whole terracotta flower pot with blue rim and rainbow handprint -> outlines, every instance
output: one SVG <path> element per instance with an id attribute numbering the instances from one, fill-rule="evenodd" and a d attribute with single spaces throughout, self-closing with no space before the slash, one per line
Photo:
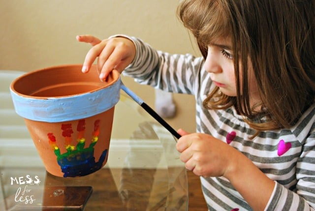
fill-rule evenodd
<path id="1" fill-rule="evenodd" d="M 114 107 L 121 79 L 113 71 L 106 82 L 96 67 L 62 65 L 26 73 L 10 87 L 46 170 L 59 177 L 91 174 L 107 162 Z"/>

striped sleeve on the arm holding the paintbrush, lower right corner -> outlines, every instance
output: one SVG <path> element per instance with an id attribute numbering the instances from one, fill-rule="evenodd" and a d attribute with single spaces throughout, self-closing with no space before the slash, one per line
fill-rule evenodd
<path id="1" fill-rule="evenodd" d="M 297 183 L 291 187 L 285 187 L 276 182 L 266 211 L 315 211 L 315 131 L 314 120 L 307 121 L 308 124 L 303 130 L 313 132 L 301 140 L 302 151 L 296 162 L 296 174 L 294 175 Z M 303 136 L 303 132 L 301 136 Z"/>

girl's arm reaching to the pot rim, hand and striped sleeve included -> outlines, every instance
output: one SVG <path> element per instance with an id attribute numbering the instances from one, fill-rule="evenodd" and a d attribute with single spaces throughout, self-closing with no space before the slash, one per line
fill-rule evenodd
<path id="1" fill-rule="evenodd" d="M 178 93 L 193 93 L 198 87 L 193 81 L 202 69 L 203 58 L 192 55 L 171 55 L 157 51 L 140 39 L 115 35 L 100 40 L 92 35 L 78 35 L 79 42 L 93 47 L 87 53 L 82 72 L 88 72 L 97 58 L 101 80 L 116 69 L 133 77 L 140 84 Z M 192 87 L 194 85 L 194 87 Z"/>

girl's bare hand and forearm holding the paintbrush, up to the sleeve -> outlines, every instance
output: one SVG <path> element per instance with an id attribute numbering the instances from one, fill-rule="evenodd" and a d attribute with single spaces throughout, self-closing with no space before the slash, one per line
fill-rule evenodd
<path id="1" fill-rule="evenodd" d="M 244 197 L 253 210 L 264 210 L 273 192 L 275 182 L 260 171 L 243 153 L 208 134 L 188 134 L 176 148 L 185 167 L 203 177 L 224 177 Z"/>

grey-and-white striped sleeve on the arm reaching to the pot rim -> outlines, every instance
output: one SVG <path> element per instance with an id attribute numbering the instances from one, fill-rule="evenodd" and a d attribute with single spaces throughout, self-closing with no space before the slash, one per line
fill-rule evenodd
<path id="1" fill-rule="evenodd" d="M 202 57 L 157 51 L 138 38 L 123 36 L 132 40 L 136 46 L 135 58 L 123 72 L 124 75 L 131 76 L 137 83 L 157 89 L 195 93 L 204 63 Z"/>

